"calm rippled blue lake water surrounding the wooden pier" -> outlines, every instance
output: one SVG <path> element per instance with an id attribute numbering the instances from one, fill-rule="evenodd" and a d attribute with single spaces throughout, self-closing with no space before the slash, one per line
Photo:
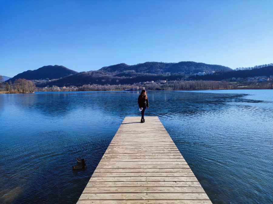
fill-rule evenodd
<path id="1" fill-rule="evenodd" d="M 0 203 L 76 203 L 138 92 L 0 94 Z M 211 201 L 273 203 L 273 90 L 147 91 Z M 72 170 L 76 158 L 87 169 Z"/>

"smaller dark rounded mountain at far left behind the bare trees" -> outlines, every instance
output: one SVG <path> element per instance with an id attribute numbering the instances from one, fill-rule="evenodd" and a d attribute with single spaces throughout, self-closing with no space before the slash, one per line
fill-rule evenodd
<path id="1" fill-rule="evenodd" d="M 28 70 L 25 72 L 22 72 L 16 76 L 14 76 L 13 78 L 11 78 L 10 80 L 12 82 L 15 81 L 15 79 L 27 79 L 27 80 L 38 80 L 38 79 L 59 79 L 71 74 L 76 74 L 78 72 L 73 71 L 71 69 L 68 69 L 64 66 L 59 66 L 59 65 L 48 65 L 48 66 L 43 66 L 39 69 L 35 69 L 35 70 Z"/>

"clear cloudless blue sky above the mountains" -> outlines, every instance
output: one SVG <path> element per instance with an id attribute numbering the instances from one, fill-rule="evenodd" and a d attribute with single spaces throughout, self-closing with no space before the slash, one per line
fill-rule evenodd
<path id="1" fill-rule="evenodd" d="M 0 0 L 0 75 L 148 61 L 273 63 L 273 0 Z"/>

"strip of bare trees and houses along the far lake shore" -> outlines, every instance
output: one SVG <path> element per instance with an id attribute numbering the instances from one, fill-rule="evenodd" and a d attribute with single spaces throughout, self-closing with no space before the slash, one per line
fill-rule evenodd
<path id="1" fill-rule="evenodd" d="M 0 76 L 1 78 L 1 76 Z M 32 93 L 38 91 L 110 91 L 125 90 L 138 87 L 140 90 L 219 90 L 219 89 L 273 89 L 273 80 L 270 82 L 228 82 L 222 81 L 202 81 L 202 80 L 175 80 L 167 82 L 148 82 L 125 85 L 98 85 L 85 84 L 83 86 L 61 87 L 53 85 L 52 87 L 36 88 L 31 80 L 16 79 L 14 83 L 0 83 L 2 93 Z"/>

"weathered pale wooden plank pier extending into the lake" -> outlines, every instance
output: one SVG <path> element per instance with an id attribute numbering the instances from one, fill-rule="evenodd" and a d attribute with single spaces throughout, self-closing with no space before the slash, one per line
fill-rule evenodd
<path id="1" fill-rule="evenodd" d="M 77 204 L 211 204 L 158 117 L 125 117 Z"/>

